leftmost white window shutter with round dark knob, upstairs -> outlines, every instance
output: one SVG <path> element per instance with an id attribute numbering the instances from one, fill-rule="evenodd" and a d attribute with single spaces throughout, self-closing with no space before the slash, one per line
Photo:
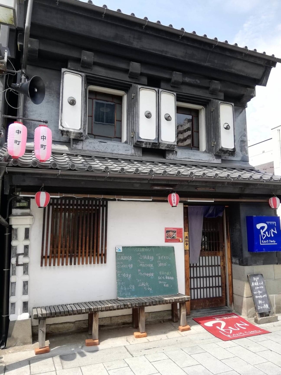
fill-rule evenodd
<path id="1" fill-rule="evenodd" d="M 59 123 L 61 132 L 70 138 L 83 138 L 85 107 L 84 74 L 63 69 Z"/>

